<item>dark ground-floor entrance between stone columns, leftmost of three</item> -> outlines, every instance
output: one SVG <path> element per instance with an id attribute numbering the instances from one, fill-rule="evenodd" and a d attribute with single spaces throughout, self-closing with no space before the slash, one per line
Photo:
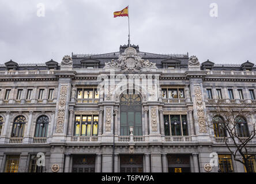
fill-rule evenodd
<path id="1" fill-rule="evenodd" d="M 95 173 L 95 155 L 73 155 L 73 173 Z"/>

